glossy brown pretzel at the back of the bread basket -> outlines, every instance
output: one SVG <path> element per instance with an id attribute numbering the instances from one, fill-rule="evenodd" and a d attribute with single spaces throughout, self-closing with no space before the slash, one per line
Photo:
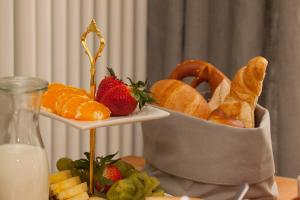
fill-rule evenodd
<path id="1" fill-rule="evenodd" d="M 190 83 L 193 88 L 204 81 L 208 82 L 212 93 L 224 79 L 230 82 L 226 75 L 214 65 L 202 60 L 187 60 L 178 64 L 169 79 L 183 80 L 186 77 L 195 77 Z"/>

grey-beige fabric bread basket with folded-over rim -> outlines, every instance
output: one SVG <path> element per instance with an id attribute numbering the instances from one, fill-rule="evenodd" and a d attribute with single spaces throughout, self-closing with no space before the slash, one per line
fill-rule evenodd
<path id="1" fill-rule="evenodd" d="M 276 199 L 267 109 L 256 107 L 251 129 L 167 111 L 167 118 L 142 123 L 146 170 L 167 193 L 227 200 L 248 183 L 246 199 Z"/>

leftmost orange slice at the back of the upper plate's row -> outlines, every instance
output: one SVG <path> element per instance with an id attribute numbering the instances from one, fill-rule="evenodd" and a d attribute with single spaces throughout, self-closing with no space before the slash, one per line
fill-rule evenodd
<path id="1" fill-rule="evenodd" d="M 41 102 L 42 107 L 47 109 L 49 112 L 55 112 L 57 98 L 63 93 L 87 96 L 86 91 L 79 88 L 73 88 L 73 87 L 52 88 L 43 94 L 42 102 Z"/>

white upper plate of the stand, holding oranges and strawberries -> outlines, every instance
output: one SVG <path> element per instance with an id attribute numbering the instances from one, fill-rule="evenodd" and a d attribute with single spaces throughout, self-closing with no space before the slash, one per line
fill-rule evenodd
<path id="1" fill-rule="evenodd" d="M 168 112 L 152 105 L 146 105 L 142 108 L 142 110 L 136 110 L 134 113 L 128 116 L 110 117 L 108 119 L 98 121 L 78 121 L 74 119 L 68 119 L 61 117 L 55 113 L 48 112 L 44 109 L 41 109 L 41 114 L 51 119 L 74 126 L 81 130 L 155 120 L 168 117 L 170 115 Z"/>

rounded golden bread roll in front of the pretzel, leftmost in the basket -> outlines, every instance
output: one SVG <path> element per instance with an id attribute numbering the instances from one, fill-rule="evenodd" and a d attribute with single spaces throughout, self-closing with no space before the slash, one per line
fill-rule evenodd
<path id="1" fill-rule="evenodd" d="M 151 87 L 156 103 L 171 110 L 207 119 L 211 110 L 204 97 L 190 85 L 174 79 L 160 80 Z"/>

